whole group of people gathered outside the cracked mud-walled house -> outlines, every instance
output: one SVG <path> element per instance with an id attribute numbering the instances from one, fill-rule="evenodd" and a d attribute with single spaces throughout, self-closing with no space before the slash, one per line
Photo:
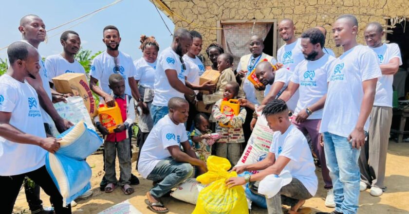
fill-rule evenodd
<path id="1" fill-rule="evenodd" d="M 278 33 L 285 44 L 277 58 L 263 53 L 261 36 L 251 36 L 250 54 L 241 57 L 234 71 L 233 55 L 216 43 L 205 50 L 211 61 L 205 67 L 200 54 L 203 37 L 197 31 L 176 29 L 172 43 L 160 54 L 155 37 L 141 36 L 143 56 L 133 61 L 119 51 L 119 30 L 106 26 L 102 31 L 106 51 L 93 59 L 89 84 L 100 103 L 118 105 L 123 123 L 109 133 L 98 118 L 94 120 L 105 140 L 101 190 L 111 193 L 119 185 L 130 195 L 134 192 L 131 185 L 139 183 L 131 173 L 130 144 L 131 126 L 139 117 L 136 169 L 153 181 L 145 202 L 155 213 L 169 211 L 161 197 L 186 178 L 207 171 L 210 155 L 228 159 L 232 171 L 239 174 L 262 170 L 229 178 L 228 187 L 289 172 L 292 181 L 277 195 L 266 197 L 271 214 L 282 213 L 281 204 L 291 207 L 289 214 L 297 214 L 305 201 L 316 195 L 316 165 L 321 167 L 322 186 L 327 190 L 325 206 L 335 208 L 331 214 L 356 214 L 360 191 L 367 188 L 372 196 L 382 195 L 386 190 L 393 74 L 402 64 L 399 47 L 382 42 L 384 32 L 376 22 L 363 32 L 367 46 L 358 44 L 357 19 L 341 15 L 332 25 L 335 45 L 343 49 L 336 58 L 325 47 L 325 28 L 312 27 L 297 38 L 293 21 L 282 19 Z M 43 209 L 40 187 L 50 196 L 57 214 L 71 213 L 74 201 L 63 206 L 45 169 L 45 154 L 59 148 L 51 125 L 61 133 L 73 125 L 53 107 L 71 94 L 55 91 L 52 79 L 67 72 L 85 73 L 74 59 L 81 39 L 74 31 L 64 32 L 61 54 L 43 62 L 38 53 L 46 38 L 43 20 L 24 16 L 19 31 L 23 39 L 8 47 L 9 69 L 0 77 L 0 183 L 7 194 L 0 207 L 12 213 L 27 176 L 36 183 L 25 186 L 32 213 L 53 213 Z M 200 84 L 200 76 L 209 69 L 220 72 L 217 83 Z M 248 80 L 253 70 L 262 84 Z M 239 100 L 237 114 L 221 111 L 222 102 L 230 99 Z M 211 113 L 199 112 L 198 102 L 212 105 Z M 257 112 L 274 131 L 269 153 L 257 163 L 236 166 L 257 123 Z"/>

